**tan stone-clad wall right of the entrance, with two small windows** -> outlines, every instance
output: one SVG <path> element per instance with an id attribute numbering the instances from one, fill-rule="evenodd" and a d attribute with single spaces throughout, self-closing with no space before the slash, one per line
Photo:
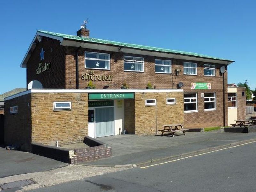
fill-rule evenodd
<path id="1" fill-rule="evenodd" d="M 176 104 L 166 105 L 166 98 L 176 98 Z M 146 99 L 156 99 L 156 106 L 146 106 Z M 184 123 L 183 105 L 183 92 L 135 93 L 135 134 L 156 134 L 156 124 L 160 130 L 164 124 Z"/>

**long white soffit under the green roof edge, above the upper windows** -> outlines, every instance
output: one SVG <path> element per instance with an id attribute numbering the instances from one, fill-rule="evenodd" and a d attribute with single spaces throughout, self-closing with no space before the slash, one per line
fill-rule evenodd
<path id="1" fill-rule="evenodd" d="M 64 39 L 61 43 L 61 45 L 66 46 L 73 46 L 73 47 L 83 47 L 88 49 L 96 49 L 96 50 L 104 50 L 104 51 L 112 51 L 112 52 L 119 52 L 118 46 L 111 46 L 111 45 L 103 45 L 103 44 L 96 44 L 96 43 L 90 43 L 90 42 L 83 42 L 83 41 L 71 41 Z M 175 53 L 165 53 L 165 52 L 156 52 L 156 51 L 147 51 L 147 50 L 140 50 L 140 49 L 132 49 L 132 48 L 125 48 L 124 51 L 121 53 L 130 53 L 130 54 L 137 54 L 137 55 L 149 55 L 154 57 L 165 57 L 170 59 L 182 59 L 182 60 L 188 60 L 188 61 L 201 61 L 205 63 L 217 63 L 222 65 L 229 65 L 232 62 L 228 62 L 225 60 L 217 60 L 217 59 L 210 59 L 210 58 L 202 58 L 202 57 L 196 57 L 196 56 L 188 56 L 188 55 L 181 55 L 181 54 L 175 54 Z"/>

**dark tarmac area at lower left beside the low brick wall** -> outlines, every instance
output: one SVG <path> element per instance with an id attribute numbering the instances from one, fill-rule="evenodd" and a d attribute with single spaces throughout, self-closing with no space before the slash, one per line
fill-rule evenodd
<path id="1" fill-rule="evenodd" d="M 23 151 L 0 147 L 0 178 L 64 167 L 69 164 Z"/>

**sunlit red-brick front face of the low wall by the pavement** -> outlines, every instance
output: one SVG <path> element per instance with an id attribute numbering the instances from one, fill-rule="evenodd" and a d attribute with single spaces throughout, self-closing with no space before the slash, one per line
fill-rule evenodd
<path id="1" fill-rule="evenodd" d="M 75 149 L 75 155 L 71 159 L 70 164 L 75 164 L 84 161 L 93 161 L 112 156 L 112 147 L 108 145 L 100 145 L 96 147 L 88 147 L 82 149 Z"/>

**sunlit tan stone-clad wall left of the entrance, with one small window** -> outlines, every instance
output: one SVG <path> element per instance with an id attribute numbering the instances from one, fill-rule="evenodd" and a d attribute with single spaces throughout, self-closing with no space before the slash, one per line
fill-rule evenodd
<path id="1" fill-rule="evenodd" d="M 71 101 L 72 109 L 53 111 L 53 102 Z M 88 135 L 88 93 L 32 93 L 32 142 L 59 145 Z"/>

